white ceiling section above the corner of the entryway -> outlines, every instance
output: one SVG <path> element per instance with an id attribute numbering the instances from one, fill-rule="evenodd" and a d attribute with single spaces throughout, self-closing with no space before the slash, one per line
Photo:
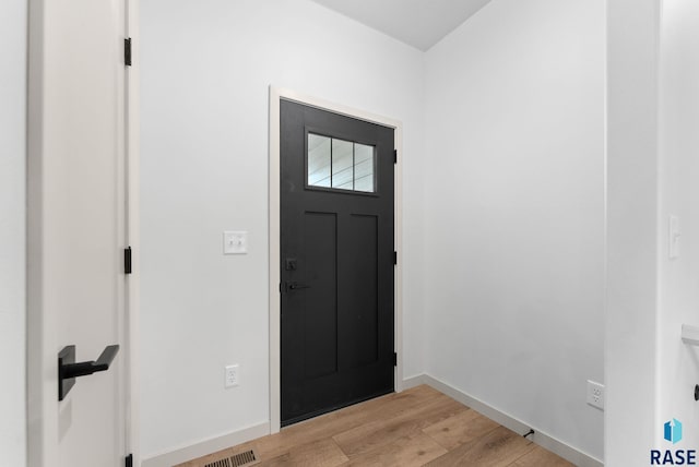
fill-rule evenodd
<path id="1" fill-rule="evenodd" d="M 313 0 L 427 50 L 490 0 Z"/>

